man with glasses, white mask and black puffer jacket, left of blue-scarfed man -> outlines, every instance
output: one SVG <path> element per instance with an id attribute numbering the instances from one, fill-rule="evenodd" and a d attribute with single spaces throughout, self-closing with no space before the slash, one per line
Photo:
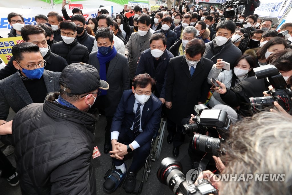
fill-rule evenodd
<path id="1" fill-rule="evenodd" d="M 87 47 L 77 42 L 76 24 L 70 20 L 60 22 L 60 31 L 63 41 L 54 43 L 51 51 L 72 63 L 88 63 L 89 52 Z"/>

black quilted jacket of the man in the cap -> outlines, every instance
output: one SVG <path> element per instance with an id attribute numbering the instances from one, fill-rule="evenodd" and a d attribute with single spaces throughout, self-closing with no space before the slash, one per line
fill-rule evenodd
<path id="1" fill-rule="evenodd" d="M 94 194 L 96 118 L 54 103 L 33 103 L 13 119 L 12 140 L 22 194 Z"/>

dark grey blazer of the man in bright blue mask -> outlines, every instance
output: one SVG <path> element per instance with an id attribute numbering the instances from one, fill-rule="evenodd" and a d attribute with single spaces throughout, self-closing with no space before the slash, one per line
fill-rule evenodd
<path id="1" fill-rule="evenodd" d="M 48 93 L 60 89 L 60 74 L 60 72 L 44 70 L 43 77 Z M 0 119 L 7 119 L 9 107 L 14 112 L 18 112 L 31 103 L 33 103 L 32 98 L 17 72 L 0 81 Z"/>

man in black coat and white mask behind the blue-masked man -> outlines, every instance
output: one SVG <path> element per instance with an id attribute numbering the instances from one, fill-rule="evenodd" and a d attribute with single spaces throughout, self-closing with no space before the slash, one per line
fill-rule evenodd
<path id="1" fill-rule="evenodd" d="M 50 47 L 46 41 L 46 32 L 37 27 L 36 25 L 26 25 L 21 30 L 22 39 L 26 42 L 31 42 L 39 46 L 42 51 L 44 60 L 46 61 L 45 70 L 53 72 L 62 72 L 62 70 L 67 66 L 67 61 L 51 52 Z M 0 80 L 16 73 L 17 69 L 13 66 L 14 57 L 12 56 L 10 61 L 8 61 L 7 66 L 5 66 L 0 71 Z"/>

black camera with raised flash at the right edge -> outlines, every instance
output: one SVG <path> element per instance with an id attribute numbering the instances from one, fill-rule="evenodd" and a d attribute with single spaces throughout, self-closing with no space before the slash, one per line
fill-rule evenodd
<path id="1" fill-rule="evenodd" d="M 264 107 L 273 107 L 274 101 L 277 101 L 281 107 L 291 114 L 292 108 L 292 91 L 287 88 L 287 83 L 279 70 L 272 64 L 267 64 L 254 68 L 257 79 L 267 78 L 268 82 L 274 89 L 268 91 L 272 96 L 249 98 L 251 110 L 262 110 Z"/>

